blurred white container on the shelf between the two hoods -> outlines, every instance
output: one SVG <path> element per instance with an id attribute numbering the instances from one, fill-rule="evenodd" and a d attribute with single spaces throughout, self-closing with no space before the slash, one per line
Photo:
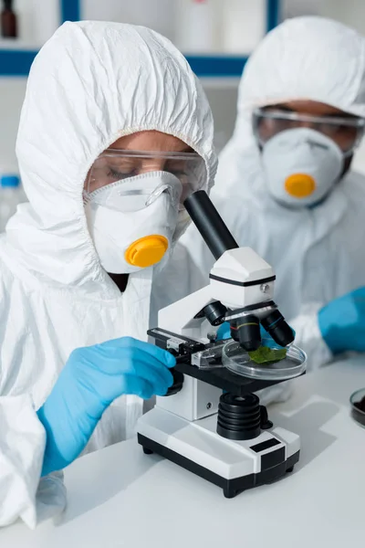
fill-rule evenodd
<path id="1" fill-rule="evenodd" d="M 216 49 L 215 0 L 180 0 L 176 44 L 183 53 L 209 53 Z"/>

